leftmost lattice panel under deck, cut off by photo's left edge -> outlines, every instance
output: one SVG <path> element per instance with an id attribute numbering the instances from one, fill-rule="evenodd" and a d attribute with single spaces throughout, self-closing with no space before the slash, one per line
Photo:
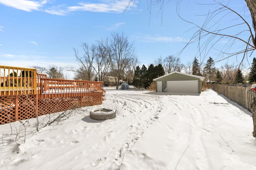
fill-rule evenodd
<path id="1" fill-rule="evenodd" d="M 0 96 L 0 125 L 15 121 L 15 96 Z"/>

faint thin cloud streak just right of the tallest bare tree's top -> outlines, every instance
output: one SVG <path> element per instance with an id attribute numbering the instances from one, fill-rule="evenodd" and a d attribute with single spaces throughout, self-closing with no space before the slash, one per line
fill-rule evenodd
<path id="1" fill-rule="evenodd" d="M 160 35 L 149 36 L 149 35 L 137 35 L 133 36 L 137 39 L 140 39 L 142 42 L 188 42 L 188 39 L 184 39 L 183 37 L 164 37 Z"/>

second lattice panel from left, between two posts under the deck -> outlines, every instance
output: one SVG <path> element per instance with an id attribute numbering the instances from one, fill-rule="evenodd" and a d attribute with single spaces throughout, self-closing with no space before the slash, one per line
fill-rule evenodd
<path id="1" fill-rule="evenodd" d="M 18 120 L 36 117 L 36 96 L 18 96 Z"/>

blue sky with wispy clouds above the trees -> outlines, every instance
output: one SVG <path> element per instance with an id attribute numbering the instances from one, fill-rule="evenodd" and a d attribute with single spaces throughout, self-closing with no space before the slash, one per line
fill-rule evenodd
<path id="1" fill-rule="evenodd" d="M 178 18 L 174 0 L 164 4 L 162 13 L 159 4 L 152 6 L 151 15 L 146 0 L 136 0 L 124 12 L 127 6 L 128 0 L 0 0 L 0 64 L 76 65 L 73 48 L 94 44 L 114 31 L 128 36 L 140 63 L 148 66 L 160 56 L 178 53 L 195 31 L 193 25 Z M 244 6 L 243 0 L 230 5 L 238 13 L 247 10 Z M 182 1 L 180 14 L 193 22 L 203 21 L 204 16 L 199 15 L 209 8 Z M 181 53 L 182 63 L 192 62 L 197 53 L 196 44 L 191 45 Z M 214 55 L 209 53 L 213 59 Z M 236 57 L 216 66 L 227 62 L 236 62 Z M 247 63 L 252 63 L 252 57 Z"/>

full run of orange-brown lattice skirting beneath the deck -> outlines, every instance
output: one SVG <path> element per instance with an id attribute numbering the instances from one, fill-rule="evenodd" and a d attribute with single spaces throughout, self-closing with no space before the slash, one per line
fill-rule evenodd
<path id="1" fill-rule="evenodd" d="M 36 102 L 36 95 L 0 96 L 0 125 L 34 118 L 37 111 L 38 116 L 40 116 L 78 107 L 100 105 L 102 104 L 102 96 L 38 98 L 38 105 Z M 38 106 L 37 110 L 36 106 Z"/>

